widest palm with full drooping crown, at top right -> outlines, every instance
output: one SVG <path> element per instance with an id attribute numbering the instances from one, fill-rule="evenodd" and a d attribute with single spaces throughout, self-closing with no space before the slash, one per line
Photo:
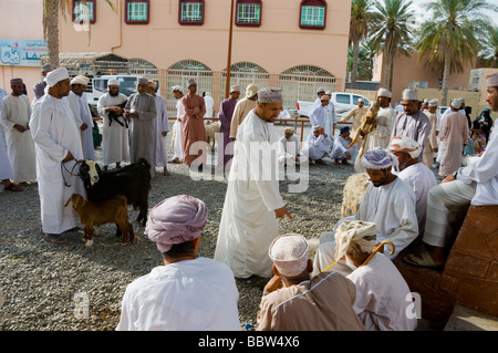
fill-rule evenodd
<path id="1" fill-rule="evenodd" d="M 442 105 L 446 105 L 450 72 L 461 72 L 476 60 L 491 22 L 483 10 L 497 11 L 497 7 L 486 0 L 437 0 L 425 7 L 434 14 L 421 27 L 418 60 L 425 58 L 443 71 Z"/>

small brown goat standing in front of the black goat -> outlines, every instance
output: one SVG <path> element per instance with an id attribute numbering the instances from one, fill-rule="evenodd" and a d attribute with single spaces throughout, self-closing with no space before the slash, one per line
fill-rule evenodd
<path id="1" fill-rule="evenodd" d="M 128 205 L 126 197 L 117 195 L 112 199 L 102 203 L 86 201 L 80 194 L 73 194 L 65 203 L 64 207 L 72 203 L 73 209 L 80 216 L 81 222 L 85 226 L 85 246 L 93 245 L 94 226 L 102 226 L 114 222 L 123 233 L 122 243 L 133 242 L 135 233 L 128 221 Z"/>

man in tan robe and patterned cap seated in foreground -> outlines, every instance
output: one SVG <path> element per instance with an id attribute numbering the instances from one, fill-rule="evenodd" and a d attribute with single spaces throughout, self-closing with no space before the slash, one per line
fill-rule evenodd
<path id="1" fill-rule="evenodd" d="M 363 331 L 353 311 L 356 289 L 342 274 L 320 273 L 310 279 L 313 264 L 309 245 L 300 235 L 273 240 L 269 256 L 276 274 L 258 313 L 258 331 Z M 283 287 L 283 288 L 282 288 Z"/>

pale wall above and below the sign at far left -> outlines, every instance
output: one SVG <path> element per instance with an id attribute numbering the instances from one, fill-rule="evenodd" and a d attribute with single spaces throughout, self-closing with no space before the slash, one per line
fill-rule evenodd
<path id="1" fill-rule="evenodd" d="M 27 11 L 29 9 L 29 11 Z M 39 0 L 0 0 L 0 38 L 43 40 L 42 2 Z M 0 63 L 0 86 L 10 93 L 10 80 L 24 81 L 30 101 L 33 85 L 42 79 L 39 66 L 14 66 Z"/>

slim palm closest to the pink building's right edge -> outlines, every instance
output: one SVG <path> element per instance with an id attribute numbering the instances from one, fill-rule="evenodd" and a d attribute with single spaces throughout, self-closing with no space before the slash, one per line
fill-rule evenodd
<path id="1" fill-rule="evenodd" d="M 350 44 L 353 44 L 353 68 L 351 71 L 351 87 L 354 89 L 357 79 L 357 60 L 360 42 L 369 32 L 371 0 L 353 0 L 350 18 Z"/>

